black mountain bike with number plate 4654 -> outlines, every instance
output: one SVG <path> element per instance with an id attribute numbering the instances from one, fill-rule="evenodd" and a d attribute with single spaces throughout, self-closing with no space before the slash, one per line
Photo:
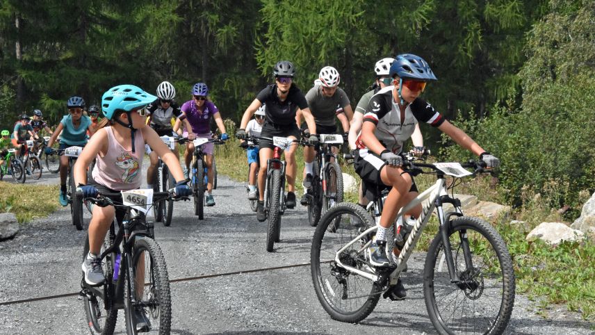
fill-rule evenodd
<path id="1" fill-rule="evenodd" d="M 122 203 L 110 197 L 122 195 Z M 77 192 L 77 197 L 82 197 Z M 156 200 L 158 199 L 158 200 Z M 85 315 L 92 334 L 113 334 L 117 313 L 124 309 L 127 334 L 157 332 L 170 334 L 171 295 L 168 268 L 161 248 L 155 241 L 153 222 L 147 222 L 150 206 L 172 199 L 175 194 L 147 190 L 129 190 L 85 198 L 98 206 L 126 209 L 122 222 L 114 219 L 101 247 L 99 258 L 106 280 L 102 286 L 90 286 L 81 280 Z M 118 227 L 117 233 L 115 227 Z M 85 239 L 83 259 L 89 252 L 89 236 Z M 139 282 L 140 281 L 140 282 Z M 139 289 L 140 288 L 140 289 Z M 150 329 L 136 329 L 135 312 L 148 309 Z"/>

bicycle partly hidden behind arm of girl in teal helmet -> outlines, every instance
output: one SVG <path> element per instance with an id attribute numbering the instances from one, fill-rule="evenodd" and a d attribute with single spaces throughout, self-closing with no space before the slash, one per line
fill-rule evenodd
<path id="1" fill-rule="evenodd" d="M 161 140 L 167 145 L 170 149 L 175 149 L 175 138 L 173 136 L 161 136 Z M 170 170 L 168 169 L 168 165 L 165 165 L 161 160 L 161 157 L 158 158 L 157 161 L 157 183 L 154 186 L 154 192 L 165 192 L 169 190 L 175 185 L 174 177 L 170 174 Z M 174 211 L 174 200 L 168 199 L 165 201 L 157 202 L 153 206 L 153 211 L 155 215 L 155 221 L 163 222 L 165 227 L 170 227 L 172 224 L 172 215 Z"/>

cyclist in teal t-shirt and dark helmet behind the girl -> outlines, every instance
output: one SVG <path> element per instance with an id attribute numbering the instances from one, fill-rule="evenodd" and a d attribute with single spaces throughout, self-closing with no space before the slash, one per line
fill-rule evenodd
<path id="1" fill-rule="evenodd" d="M 51 149 L 51 146 L 54 145 L 58 136 L 61 136 L 60 147 L 58 148 L 61 150 L 72 146 L 84 147 L 87 144 L 87 132 L 91 135 L 93 134 L 91 119 L 87 115 L 83 115 L 85 100 L 81 97 L 70 97 L 66 103 L 66 107 L 69 113 L 62 118 L 60 124 L 56 127 L 56 131 L 51 134 L 51 138 L 49 138 L 49 142 L 45 148 L 46 154 L 51 154 L 54 150 Z M 68 205 L 68 198 L 66 196 L 67 175 L 68 157 L 60 156 L 60 195 L 58 200 L 62 206 Z"/>

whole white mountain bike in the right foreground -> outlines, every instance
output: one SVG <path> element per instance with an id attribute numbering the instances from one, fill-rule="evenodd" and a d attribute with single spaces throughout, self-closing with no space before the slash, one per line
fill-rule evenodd
<path id="1" fill-rule="evenodd" d="M 414 163 L 414 159 L 407 155 L 404 168 L 413 173 L 435 174 L 437 181 L 398 213 L 399 218 L 423 203 L 423 213 L 411 228 L 396 264 L 375 268 L 366 252 L 377 230 L 375 221 L 380 222 L 387 192 L 377 193 L 375 201 L 368 204 L 374 217 L 356 204 L 343 203 L 320 220 L 311 247 L 311 277 L 320 304 L 334 320 L 364 320 L 380 295 L 391 297 L 389 294 L 435 209 L 439 232 L 430 244 L 423 269 L 423 294 L 432 324 L 439 334 L 502 334 L 514 305 L 510 254 L 491 224 L 463 216 L 454 191 L 448 195 L 457 178 L 483 172 L 484 163 L 428 164 Z M 446 176 L 455 178 L 448 187 Z M 453 204 L 455 211 L 444 213 L 444 203 Z M 327 226 L 336 219 L 341 220 L 339 229 L 327 232 Z M 387 250 L 392 250 L 392 245 Z"/>

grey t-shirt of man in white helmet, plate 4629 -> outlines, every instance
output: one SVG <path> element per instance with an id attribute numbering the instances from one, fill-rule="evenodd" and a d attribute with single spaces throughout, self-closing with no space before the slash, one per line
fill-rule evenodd
<path id="1" fill-rule="evenodd" d="M 306 93 L 306 100 L 316 124 L 321 126 L 334 126 L 337 109 L 350 104 L 349 98 L 341 88 L 337 88 L 332 97 L 325 97 L 323 88 L 319 85 Z"/>

